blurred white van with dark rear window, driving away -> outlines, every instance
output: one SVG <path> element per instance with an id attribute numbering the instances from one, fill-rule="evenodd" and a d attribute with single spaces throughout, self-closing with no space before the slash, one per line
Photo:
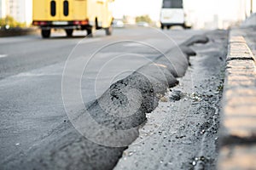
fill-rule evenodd
<path id="1" fill-rule="evenodd" d="M 185 20 L 183 9 L 183 0 L 163 0 L 160 11 L 161 29 L 165 27 L 170 29 L 171 26 L 183 26 L 183 28 L 191 28 Z"/>

